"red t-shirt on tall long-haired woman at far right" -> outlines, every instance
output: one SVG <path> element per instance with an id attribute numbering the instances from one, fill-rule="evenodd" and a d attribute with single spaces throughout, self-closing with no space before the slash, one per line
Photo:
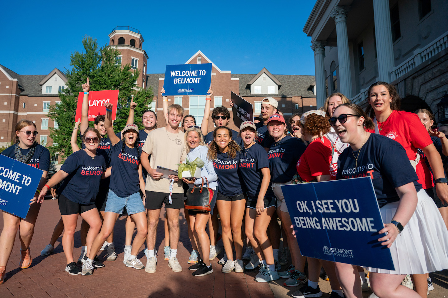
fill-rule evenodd
<path id="1" fill-rule="evenodd" d="M 400 143 L 405 148 L 409 160 L 415 160 L 417 148 L 422 149 L 432 144 L 431 137 L 417 114 L 392 110 L 386 121 L 377 123 L 378 129 L 381 128 L 379 134 Z M 418 183 L 423 189 L 428 189 L 434 184 L 431 172 L 426 166 L 423 167 L 423 164 L 422 160 L 417 164 Z"/>

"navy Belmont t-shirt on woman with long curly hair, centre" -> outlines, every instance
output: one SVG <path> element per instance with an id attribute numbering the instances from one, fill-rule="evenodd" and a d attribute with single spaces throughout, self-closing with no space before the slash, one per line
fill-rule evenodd
<path id="1" fill-rule="evenodd" d="M 213 168 L 218 175 L 218 189 L 224 196 L 233 197 L 243 192 L 241 189 L 241 175 L 238 171 L 241 152 L 237 151 L 235 158 L 228 158 L 228 154 L 216 152 Z"/>

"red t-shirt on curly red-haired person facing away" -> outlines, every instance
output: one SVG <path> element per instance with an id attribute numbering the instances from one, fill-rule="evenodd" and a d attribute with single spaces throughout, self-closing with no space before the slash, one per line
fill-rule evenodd
<path id="1" fill-rule="evenodd" d="M 325 143 L 320 138 L 311 142 L 297 161 L 297 173 L 307 182 L 314 180 L 314 176 L 330 174 L 332 147 L 329 139 L 324 137 L 323 140 Z M 336 172 L 333 173 L 331 179 L 335 180 Z"/>

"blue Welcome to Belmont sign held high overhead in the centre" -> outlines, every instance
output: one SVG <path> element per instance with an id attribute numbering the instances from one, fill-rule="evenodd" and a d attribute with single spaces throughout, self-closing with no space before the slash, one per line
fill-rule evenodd
<path id="1" fill-rule="evenodd" d="M 205 95 L 211 83 L 211 63 L 167 65 L 165 95 Z"/>

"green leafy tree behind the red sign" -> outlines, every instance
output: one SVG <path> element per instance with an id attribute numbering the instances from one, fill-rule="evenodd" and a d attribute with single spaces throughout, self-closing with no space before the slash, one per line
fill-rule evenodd
<path id="1" fill-rule="evenodd" d="M 137 102 L 139 109 L 147 107 L 153 97 L 151 88 L 145 90 L 135 86 L 134 78 L 138 77 L 138 70 L 131 70 L 129 64 L 124 67 L 115 65 L 115 57 L 121 55 L 119 50 L 107 45 L 99 47 L 96 39 L 91 37 L 84 37 L 82 45 L 83 52 L 76 51 L 70 55 L 72 69 L 66 70 L 67 88 L 64 93 L 59 93 L 60 103 L 51 106 L 48 113 L 48 117 L 56 120 L 59 126 L 57 129 L 50 128 L 53 146 L 48 149 L 52 154 L 60 152 L 64 158 L 73 152 L 70 138 L 75 123 L 78 93 L 82 92 L 81 85 L 87 81 L 87 77 L 90 81 L 90 91 L 120 90 L 117 119 L 114 123 L 116 131 L 124 128 L 129 114 L 128 102 L 131 95 L 134 95 L 134 101 Z M 141 113 L 136 111 L 135 116 L 138 119 Z M 136 122 L 138 123 L 138 120 Z M 93 126 L 93 123 L 91 125 Z"/>

